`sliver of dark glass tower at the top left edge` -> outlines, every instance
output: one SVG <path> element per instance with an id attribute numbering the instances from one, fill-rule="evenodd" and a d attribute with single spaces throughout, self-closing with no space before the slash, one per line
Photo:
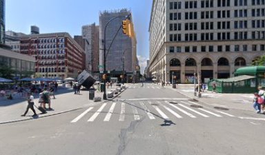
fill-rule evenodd
<path id="1" fill-rule="evenodd" d="M 5 0 L 0 0 L 0 44 L 5 43 Z"/>

